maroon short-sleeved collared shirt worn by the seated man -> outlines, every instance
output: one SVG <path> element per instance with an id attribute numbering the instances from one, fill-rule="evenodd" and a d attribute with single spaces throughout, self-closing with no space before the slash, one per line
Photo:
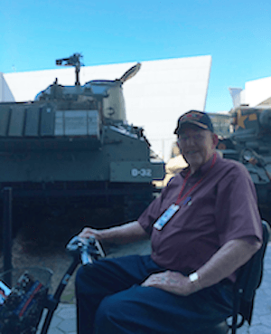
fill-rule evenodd
<path id="1" fill-rule="evenodd" d="M 262 240 L 257 195 L 248 170 L 219 155 L 213 167 L 211 162 L 212 158 L 188 177 L 182 195 L 203 179 L 188 196 L 191 200 L 181 201 L 180 209 L 162 230 L 153 224 L 176 202 L 189 168 L 173 177 L 138 219 L 151 236 L 152 259 L 166 269 L 190 274 L 230 240 L 251 236 Z M 229 279 L 234 280 L 234 275 Z"/>

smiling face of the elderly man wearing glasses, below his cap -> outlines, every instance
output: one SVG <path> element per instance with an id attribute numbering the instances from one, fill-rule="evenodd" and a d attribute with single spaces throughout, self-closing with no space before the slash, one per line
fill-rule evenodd
<path id="1" fill-rule="evenodd" d="M 182 156 L 194 172 L 215 153 L 218 136 L 209 130 L 187 124 L 185 129 L 182 129 L 177 143 Z"/>

